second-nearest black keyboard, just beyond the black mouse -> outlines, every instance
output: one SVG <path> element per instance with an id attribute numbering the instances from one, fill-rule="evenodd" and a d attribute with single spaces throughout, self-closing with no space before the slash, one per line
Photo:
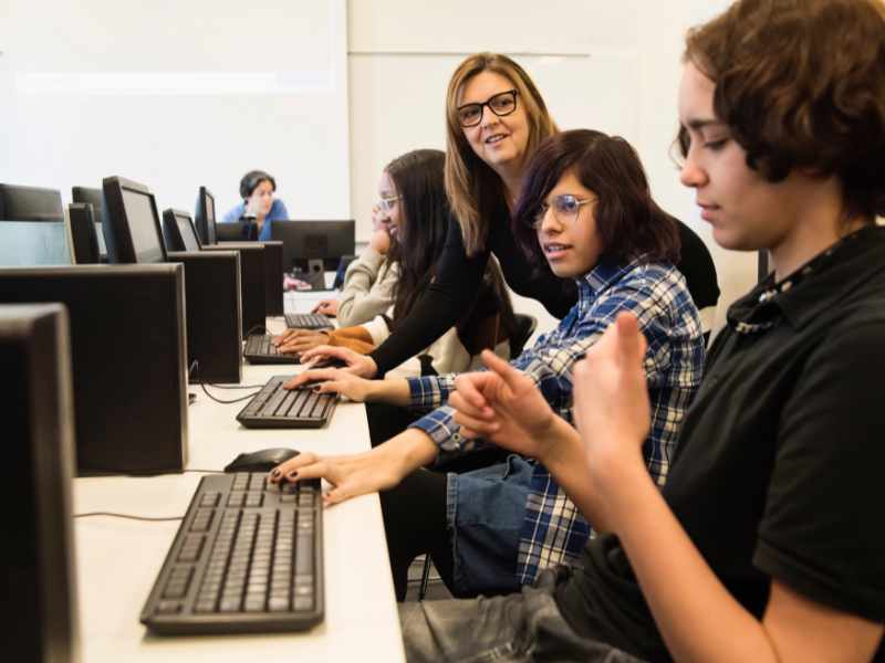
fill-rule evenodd
<path id="1" fill-rule="evenodd" d="M 275 376 L 237 414 L 246 428 L 320 428 L 335 411 L 337 394 L 314 393 L 310 387 L 283 389 L 292 376 Z"/>

